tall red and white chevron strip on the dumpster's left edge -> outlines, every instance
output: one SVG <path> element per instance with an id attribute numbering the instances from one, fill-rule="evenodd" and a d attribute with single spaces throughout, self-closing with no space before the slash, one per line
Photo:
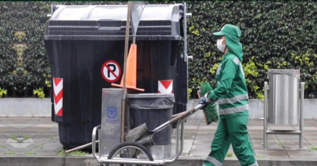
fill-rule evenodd
<path id="1" fill-rule="evenodd" d="M 54 112 L 63 115 L 63 78 L 53 77 Z"/>

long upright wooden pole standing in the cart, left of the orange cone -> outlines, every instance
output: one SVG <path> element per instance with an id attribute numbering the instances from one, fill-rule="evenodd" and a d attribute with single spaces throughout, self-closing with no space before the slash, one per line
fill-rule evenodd
<path id="1" fill-rule="evenodd" d="M 126 114 L 126 58 L 128 56 L 129 30 L 131 16 L 131 1 L 128 1 L 128 13 L 126 16 L 126 40 L 124 43 L 124 64 L 123 64 L 123 86 L 122 86 L 122 105 L 121 105 L 121 142 L 124 142 L 124 121 Z"/>

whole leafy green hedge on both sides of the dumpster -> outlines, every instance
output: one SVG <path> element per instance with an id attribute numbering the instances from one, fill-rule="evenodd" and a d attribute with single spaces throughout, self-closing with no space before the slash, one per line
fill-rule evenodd
<path id="1" fill-rule="evenodd" d="M 0 2 L 0 88 L 7 89 L 9 96 L 31 95 L 33 90 L 41 87 L 46 96 L 49 94 L 51 71 L 43 35 L 51 3 L 119 4 Z M 242 31 L 243 66 L 251 97 L 262 98 L 263 82 L 270 68 L 300 69 L 301 80 L 306 82 L 307 97 L 317 96 L 317 3 L 187 4 L 188 11 L 193 14 L 187 20 L 188 54 L 194 57 L 189 62 L 191 97 L 196 97 L 201 82 L 209 81 L 215 86 L 214 74 L 222 55 L 212 32 L 220 30 L 224 24 L 234 24 Z"/>

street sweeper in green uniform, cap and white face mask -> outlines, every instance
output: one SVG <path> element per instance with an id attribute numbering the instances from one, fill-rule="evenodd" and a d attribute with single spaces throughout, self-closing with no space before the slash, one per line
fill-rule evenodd
<path id="1" fill-rule="evenodd" d="M 217 87 L 201 97 L 199 103 L 208 105 L 217 101 L 220 119 L 211 152 L 203 166 L 222 165 L 230 144 L 242 166 L 257 166 L 247 129 L 249 97 L 241 65 L 241 31 L 234 25 L 226 24 L 213 34 L 218 37 L 217 48 L 224 57 L 216 71 Z"/>

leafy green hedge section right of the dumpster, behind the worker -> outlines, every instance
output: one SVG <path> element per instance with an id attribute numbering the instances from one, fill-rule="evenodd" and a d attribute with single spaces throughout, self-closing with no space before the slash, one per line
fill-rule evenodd
<path id="1" fill-rule="evenodd" d="M 212 32 L 234 24 L 242 31 L 243 66 L 251 97 L 263 97 L 268 69 L 300 69 L 306 94 L 316 96 L 317 3 L 195 2 L 188 8 L 193 13 L 188 20 L 188 49 L 194 57 L 189 65 L 190 88 L 197 89 L 203 81 L 215 85 L 222 55 Z"/>

